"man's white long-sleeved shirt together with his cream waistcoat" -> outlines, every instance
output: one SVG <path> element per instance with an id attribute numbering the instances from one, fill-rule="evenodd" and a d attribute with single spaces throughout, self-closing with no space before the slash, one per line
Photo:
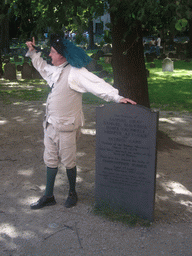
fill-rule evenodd
<path id="1" fill-rule="evenodd" d="M 117 89 L 86 68 L 75 68 L 68 62 L 49 65 L 35 50 L 26 56 L 31 57 L 33 66 L 52 88 L 46 103 L 46 121 L 60 131 L 73 131 L 84 124 L 82 93 L 90 92 L 116 103 L 123 98 Z"/>

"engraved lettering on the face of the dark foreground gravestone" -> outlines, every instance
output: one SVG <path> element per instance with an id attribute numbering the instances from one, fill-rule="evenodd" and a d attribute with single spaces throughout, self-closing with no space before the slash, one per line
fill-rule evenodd
<path id="1" fill-rule="evenodd" d="M 144 143 L 148 137 L 149 129 L 142 120 L 122 115 L 103 120 L 103 138 L 98 148 L 104 166 L 99 174 L 101 184 L 138 189 L 150 183 L 146 170 L 151 153 Z"/>

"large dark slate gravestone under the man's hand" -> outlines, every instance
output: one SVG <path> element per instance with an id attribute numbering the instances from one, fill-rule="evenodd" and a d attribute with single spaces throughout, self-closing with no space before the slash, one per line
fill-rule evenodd
<path id="1" fill-rule="evenodd" d="M 96 205 L 153 221 L 158 113 L 130 104 L 109 104 L 96 113 Z"/>

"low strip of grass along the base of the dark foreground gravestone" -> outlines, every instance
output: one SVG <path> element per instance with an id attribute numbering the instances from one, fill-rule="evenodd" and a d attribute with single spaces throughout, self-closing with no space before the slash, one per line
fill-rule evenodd
<path id="1" fill-rule="evenodd" d="M 137 215 L 129 214 L 123 209 L 114 209 L 107 203 L 102 203 L 101 205 L 94 205 L 93 213 L 95 215 L 102 216 L 113 222 L 122 222 L 128 226 L 144 226 L 149 227 L 151 222 L 149 220 L 144 220 Z"/>

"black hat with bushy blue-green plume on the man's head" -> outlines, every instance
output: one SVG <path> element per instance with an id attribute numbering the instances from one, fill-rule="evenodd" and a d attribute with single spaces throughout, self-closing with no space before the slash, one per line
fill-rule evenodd
<path id="1" fill-rule="evenodd" d="M 85 51 L 77 47 L 71 41 L 63 38 L 61 35 L 52 34 L 50 45 L 62 56 L 66 58 L 69 64 L 76 68 L 86 67 L 91 61 L 91 58 Z"/>

